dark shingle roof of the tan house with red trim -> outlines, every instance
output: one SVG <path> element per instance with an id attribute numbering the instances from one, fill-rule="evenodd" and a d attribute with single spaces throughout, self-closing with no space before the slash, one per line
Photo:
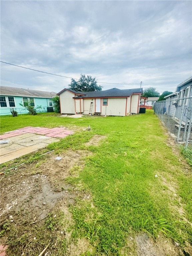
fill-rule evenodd
<path id="1" fill-rule="evenodd" d="M 65 89 L 64 89 L 65 90 Z M 62 90 L 61 92 L 63 92 Z M 69 89 L 67 89 L 69 90 Z M 83 96 L 78 96 L 76 98 L 100 98 L 100 97 L 128 97 L 131 96 L 133 93 L 143 93 L 143 88 L 136 88 L 136 89 L 126 89 L 120 90 L 117 88 L 112 88 L 105 91 L 94 91 L 94 92 L 78 92 L 74 90 L 69 90 L 75 94 L 84 94 Z M 58 93 L 60 94 L 60 93 Z"/>

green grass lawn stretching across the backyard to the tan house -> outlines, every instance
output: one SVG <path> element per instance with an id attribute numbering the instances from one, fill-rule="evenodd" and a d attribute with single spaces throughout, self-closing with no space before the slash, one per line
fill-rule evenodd
<path id="1" fill-rule="evenodd" d="M 85 156 L 79 176 L 67 179 L 91 195 L 90 201 L 77 200 L 70 209 L 75 220 L 72 237 L 86 237 L 94 246 L 87 255 L 121 255 L 128 237 L 143 230 L 153 237 L 163 232 L 181 247 L 186 241 L 192 244 L 191 170 L 167 144 L 165 130 L 152 110 L 127 117 L 75 119 L 51 113 L 1 117 L 1 134 L 25 126 L 59 125 L 91 127 L 48 146 L 56 153 L 69 148 L 93 152 Z M 99 146 L 86 146 L 95 134 L 106 137 Z"/>

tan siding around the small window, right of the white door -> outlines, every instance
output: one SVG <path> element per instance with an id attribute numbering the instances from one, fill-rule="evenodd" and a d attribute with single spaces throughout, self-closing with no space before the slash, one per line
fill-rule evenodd
<path id="1" fill-rule="evenodd" d="M 108 105 L 103 106 L 101 99 L 101 115 L 107 116 L 125 116 L 126 98 L 108 98 Z"/>

